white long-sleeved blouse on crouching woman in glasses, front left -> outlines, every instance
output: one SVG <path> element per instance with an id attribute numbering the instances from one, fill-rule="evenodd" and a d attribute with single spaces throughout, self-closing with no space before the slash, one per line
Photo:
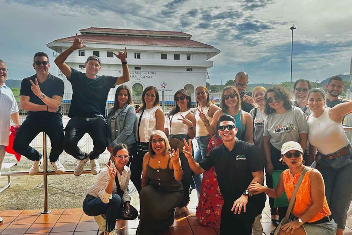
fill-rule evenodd
<path id="1" fill-rule="evenodd" d="M 115 164 L 113 164 L 113 167 L 116 169 Z M 122 198 L 121 198 L 121 202 L 125 203 L 127 201 L 131 201 L 131 197 L 128 196 L 128 192 L 127 192 L 128 182 L 130 181 L 130 178 L 131 178 L 130 168 L 125 166 L 121 175 L 117 171 L 117 169 L 116 169 L 116 172 L 117 172 L 116 174 L 117 178 L 119 179 L 121 190 L 124 191 L 124 194 L 122 195 Z M 108 203 L 109 200 L 112 198 L 111 194 L 105 192 L 105 189 L 109 184 L 109 180 L 110 180 L 109 170 L 107 167 L 104 167 L 98 174 L 98 179 L 96 179 L 94 185 L 88 191 L 88 194 L 92 195 L 93 197 L 100 197 L 103 203 Z M 112 193 L 117 193 L 115 180 L 113 182 Z"/>

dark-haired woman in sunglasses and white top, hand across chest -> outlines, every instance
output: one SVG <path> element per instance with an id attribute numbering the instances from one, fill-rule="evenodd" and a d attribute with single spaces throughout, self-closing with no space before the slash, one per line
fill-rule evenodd
<path id="1" fill-rule="evenodd" d="M 195 137 L 196 119 L 190 111 L 191 97 L 186 89 L 178 90 L 174 95 L 176 106 L 169 112 L 166 118 L 166 128 L 164 132 L 169 135 L 169 138 L 176 138 L 182 141 L 185 138 L 187 141 Z M 181 149 L 182 151 L 182 149 Z M 181 152 L 180 159 L 183 169 L 182 185 L 184 188 L 183 199 L 180 205 L 175 208 L 176 215 L 180 215 L 185 211 L 185 206 L 189 203 L 189 188 L 192 179 L 192 170 L 188 165 L 186 156 Z"/>

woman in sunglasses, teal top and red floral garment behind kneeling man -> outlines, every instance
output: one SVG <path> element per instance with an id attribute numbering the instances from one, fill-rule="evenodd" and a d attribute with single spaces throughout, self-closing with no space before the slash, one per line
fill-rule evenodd
<path id="1" fill-rule="evenodd" d="M 221 115 L 228 114 L 235 118 L 238 132 L 236 137 L 239 140 L 253 142 L 253 120 L 252 116 L 241 110 L 241 99 L 237 88 L 234 86 L 226 86 L 222 90 L 221 110 L 215 111 L 213 120 L 210 125 L 206 125 L 209 135 L 213 135 L 210 139 L 207 154 L 222 143 L 218 136 L 218 120 Z M 219 190 L 218 180 L 216 179 L 215 168 L 203 173 L 201 194 L 196 211 L 199 222 L 203 225 L 220 228 L 221 207 L 224 199 Z"/>

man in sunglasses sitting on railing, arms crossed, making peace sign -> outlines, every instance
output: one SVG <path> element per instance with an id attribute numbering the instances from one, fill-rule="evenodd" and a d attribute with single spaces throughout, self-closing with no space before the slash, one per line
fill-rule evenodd
<path id="1" fill-rule="evenodd" d="M 13 149 L 34 161 L 29 174 L 37 174 L 42 163 L 42 154 L 29 144 L 39 132 L 45 131 L 51 142 L 50 163 L 57 173 L 63 173 L 65 168 L 58 157 L 63 151 L 61 100 L 64 82 L 49 73 L 49 57 L 44 52 L 34 54 L 33 68 L 36 74 L 21 82 L 20 105 L 28 113 L 13 141 Z"/>

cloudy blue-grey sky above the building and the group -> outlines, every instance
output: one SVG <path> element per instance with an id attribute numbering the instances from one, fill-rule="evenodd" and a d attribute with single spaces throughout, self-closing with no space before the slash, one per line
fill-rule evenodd
<path id="1" fill-rule="evenodd" d="M 211 60 L 210 84 L 243 70 L 250 83 L 311 81 L 350 72 L 350 0 L 0 0 L 0 58 L 8 79 L 34 73 L 34 52 L 86 27 L 183 31 L 221 53 Z M 79 32 L 78 32 L 79 33 Z M 57 67 L 51 63 L 51 73 Z"/>

